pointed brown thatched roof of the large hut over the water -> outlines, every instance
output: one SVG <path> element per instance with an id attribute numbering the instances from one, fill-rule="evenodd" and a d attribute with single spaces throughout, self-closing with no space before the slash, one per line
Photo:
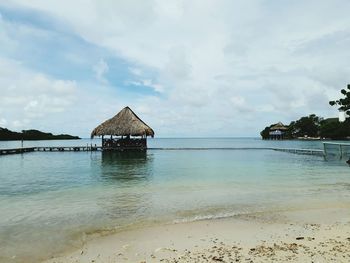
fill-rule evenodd
<path id="1" fill-rule="evenodd" d="M 91 138 L 101 135 L 116 136 L 154 136 L 154 131 L 144 123 L 129 107 L 122 109 L 113 118 L 97 126 Z"/>

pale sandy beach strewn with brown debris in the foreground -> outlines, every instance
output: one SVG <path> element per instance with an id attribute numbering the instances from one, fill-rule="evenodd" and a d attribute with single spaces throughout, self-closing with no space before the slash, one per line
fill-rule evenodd
<path id="1" fill-rule="evenodd" d="M 348 207 L 143 227 L 45 262 L 349 262 Z"/>

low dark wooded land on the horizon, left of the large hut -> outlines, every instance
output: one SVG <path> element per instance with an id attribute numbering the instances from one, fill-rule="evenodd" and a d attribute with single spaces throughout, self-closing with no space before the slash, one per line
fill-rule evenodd
<path id="1" fill-rule="evenodd" d="M 0 141 L 34 141 L 34 140 L 78 140 L 78 136 L 68 134 L 53 135 L 38 130 L 23 130 L 22 132 L 10 131 L 0 127 Z"/>

